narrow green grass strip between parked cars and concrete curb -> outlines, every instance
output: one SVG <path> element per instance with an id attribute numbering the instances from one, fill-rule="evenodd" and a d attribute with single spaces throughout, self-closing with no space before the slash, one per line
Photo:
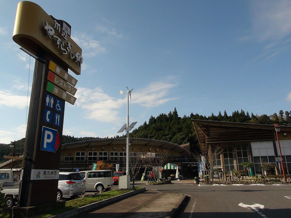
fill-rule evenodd
<path id="1" fill-rule="evenodd" d="M 54 216 L 54 215 L 57 215 L 57 214 L 60 214 L 60 213 L 63 213 L 63 212 L 67 212 L 69 210 L 73 210 L 75 208 L 79 208 L 79 207 L 82 207 L 82 206 L 85 206 L 85 205 L 88 205 L 88 204 L 91 204 L 91 203 L 95 203 L 95 202 L 99 202 L 99 201 L 102 201 L 102 200 L 105 200 L 105 199 L 109 199 L 109 198 L 112 198 L 112 197 L 115 197 L 115 196 L 118 196 L 118 195 L 121 195 L 121 194 L 125 194 L 127 192 L 132 192 L 134 190 L 141 189 L 141 188 L 142 187 L 134 187 L 134 188 L 132 188 L 130 190 L 112 190 L 112 191 L 103 192 L 103 193 L 100 193 L 100 194 L 97 194 L 97 195 L 91 195 L 91 196 L 87 196 L 87 197 L 84 197 L 84 198 L 79 198 L 79 199 L 74 199 L 74 200 L 71 200 L 71 201 L 66 201 L 66 204 L 65 204 L 64 208 L 56 209 L 56 210 L 51 211 L 50 213 L 47 213 L 47 214 L 36 215 L 33 218 L 51 217 L 51 216 Z"/>

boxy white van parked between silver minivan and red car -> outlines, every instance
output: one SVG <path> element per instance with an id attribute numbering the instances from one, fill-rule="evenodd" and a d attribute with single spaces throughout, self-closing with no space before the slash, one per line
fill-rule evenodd
<path id="1" fill-rule="evenodd" d="M 96 189 L 98 192 L 109 190 L 113 186 L 111 170 L 80 171 L 86 180 L 86 190 Z"/>

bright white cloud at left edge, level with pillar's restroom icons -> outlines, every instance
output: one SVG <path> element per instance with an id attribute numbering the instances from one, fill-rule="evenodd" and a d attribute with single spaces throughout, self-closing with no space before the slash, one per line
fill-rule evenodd
<path id="1" fill-rule="evenodd" d="M 0 91 L 0 106 L 15 107 L 17 109 L 23 109 L 27 106 L 27 101 L 30 101 L 30 97 L 27 100 L 27 96 L 17 95 L 11 91 Z"/>

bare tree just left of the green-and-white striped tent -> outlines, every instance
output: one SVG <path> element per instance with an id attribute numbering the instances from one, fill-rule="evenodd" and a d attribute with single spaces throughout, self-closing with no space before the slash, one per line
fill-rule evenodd
<path id="1" fill-rule="evenodd" d="M 152 173 L 155 177 L 155 182 L 157 181 L 159 171 L 162 169 L 162 167 L 164 167 L 168 160 L 168 149 L 159 149 L 158 153 L 147 153 L 146 162 L 152 169 Z"/>

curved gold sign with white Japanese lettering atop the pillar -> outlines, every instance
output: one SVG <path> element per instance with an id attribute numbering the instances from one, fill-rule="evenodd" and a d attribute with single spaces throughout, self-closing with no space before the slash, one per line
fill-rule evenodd
<path id="1" fill-rule="evenodd" d="M 58 22 L 36 3 L 21 1 L 17 6 L 13 41 L 36 56 L 40 46 L 62 66 L 79 75 L 83 63 L 82 49 L 71 39 L 69 28 Z"/>

